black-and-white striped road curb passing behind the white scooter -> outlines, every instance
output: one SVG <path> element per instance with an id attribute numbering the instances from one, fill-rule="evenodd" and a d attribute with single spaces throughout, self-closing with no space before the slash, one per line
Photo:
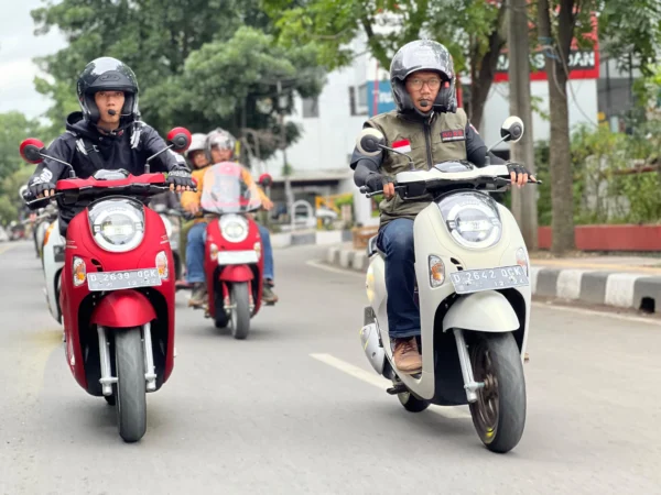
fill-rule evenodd
<path id="1" fill-rule="evenodd" d="M 326 263 L 366 273 L 366 251 L 330 248 Z M 531 266 L 534 296 L 661 312 L 661 276 L 644 273 Z"/>

